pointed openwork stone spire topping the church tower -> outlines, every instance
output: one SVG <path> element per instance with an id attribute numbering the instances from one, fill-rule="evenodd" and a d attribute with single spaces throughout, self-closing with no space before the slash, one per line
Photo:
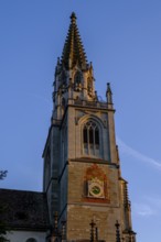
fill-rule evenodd
<path id="1" fill-rule="evenodd" d="M 87 64 L 74 12 L 71 15 L 71 24 L 62 53 L 62 64 L 66 69 L 73 68 L 76 64 L 84 68 Z"/>

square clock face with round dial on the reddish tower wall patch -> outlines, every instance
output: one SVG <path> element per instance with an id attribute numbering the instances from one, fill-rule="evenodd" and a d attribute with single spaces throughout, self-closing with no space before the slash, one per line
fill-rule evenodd
<path id="1" fill-rule="evenodd" d="M 104 198 L 104 183 L 88 182 L 88 197 Z"/>

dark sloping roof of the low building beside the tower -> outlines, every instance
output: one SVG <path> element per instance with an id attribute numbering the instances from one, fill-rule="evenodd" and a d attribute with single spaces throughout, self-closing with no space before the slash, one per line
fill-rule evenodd
<path id="1" fill-rule="evenodd" d="M 42 230 L 49 228 L 49 210 L 44 193 L 0 189 L 1 220 L 9 229 Z"/>

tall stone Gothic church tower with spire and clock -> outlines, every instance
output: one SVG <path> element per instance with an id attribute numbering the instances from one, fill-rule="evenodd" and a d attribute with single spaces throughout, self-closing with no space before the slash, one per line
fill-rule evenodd
<path id="1" fill-rule="evenodd" d="M 92 63 L 72 13 L 54 77 L 53 113 L 43 152 L 43 190 L 53 237 L 66 241 L 135 242 L 127 182 L 121 177 L 112 92 L 95 90 Z"/>

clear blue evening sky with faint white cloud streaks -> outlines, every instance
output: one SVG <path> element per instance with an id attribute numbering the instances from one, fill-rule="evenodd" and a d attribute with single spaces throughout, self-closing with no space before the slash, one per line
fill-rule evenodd
<path id="1" fill-rule="evenodd" d="M 0 1 L 0 168 L 9 170 L 1 187 L 42 189 L 54 68 L 72 11 L 103 99 L 106 82 L 111 84 L 137 239 L 159 241 L 160 0 Z"/>

